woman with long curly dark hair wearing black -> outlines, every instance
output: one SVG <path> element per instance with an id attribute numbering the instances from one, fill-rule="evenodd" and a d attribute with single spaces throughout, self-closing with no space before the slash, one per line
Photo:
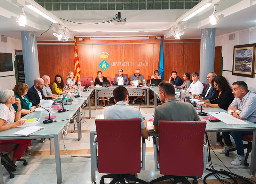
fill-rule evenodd
<path id="1" fill-rule="evenodd" d="M 212 80 L 214 86 L 214 94 L 208 100 L 203 100 L 201 96 L 198 100 L 204 102 L 203 107 L 213 107 L 228 110 L 229 105 L 233 102 L 234 96 L 230 89 L 228 80 L 223 76 L 218 76 Z M 218 98 L 218 99 L 216 99 Z M 216 100 L 213 100 L 216 99 Z M 213 100 L 213 101 L 211 101 Z M 211 102 L 210 102 L 211 101 Z M 210 102 L 210 103 L 206 103 Z"/>

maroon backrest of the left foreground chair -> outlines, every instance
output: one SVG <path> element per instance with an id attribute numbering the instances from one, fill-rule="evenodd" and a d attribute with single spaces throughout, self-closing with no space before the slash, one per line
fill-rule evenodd
<path id="1" fill-rule="evenodd" d="M 95 119 L 99 173 L 140 173 L 141 119 Z"/>

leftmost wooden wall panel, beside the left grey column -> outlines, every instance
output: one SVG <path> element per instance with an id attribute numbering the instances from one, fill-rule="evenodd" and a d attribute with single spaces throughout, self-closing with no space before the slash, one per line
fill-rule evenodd
<path id="1" fill-rule="evenodd" d="M 37 46 L 40 77 L 48 75 L 54 81 L 56 74 L 63 76 L 61 45 Z"/>

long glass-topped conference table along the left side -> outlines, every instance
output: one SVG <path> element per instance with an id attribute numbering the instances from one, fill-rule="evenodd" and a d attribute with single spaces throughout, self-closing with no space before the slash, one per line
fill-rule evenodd
<path id="1" fill-rule="evenodd" d="M 87 92 L 81 92 L 79 93 L 81 97 L 75 98 L 75 100 L 72 102 L 72 105 L 64 105 L 64 108 L 66 112 L 61 112 L 58 113 L 57 110 L 54 110 L 52 108 L 52 116 L 56 116 L 53 120 L 57 120 L 58 122 L 50 123 L 50 124 L 43 124 L 43 120 L 45 119 L 46 116 L 49 116 L 47 111 L 34 111 L 32 113 L 29 113 L 28 115 L 22 117 L 22 119 L 29 119 L 29 118 L 41 118 L 39 120 L 39 124 L 36 126 L 44 126 L 46 128 L 41 129 L 29 136 L 19 136 L 13 134 L 16 131 L 24 129 L 21 127 L 17 128 L 11 128 L 9 130 L 1 131 L 0 132 L 0 140 L 13 140 L 13 139 L 35 139 L 35 138 L 49 138 L 50 142 L 54 141 L 54 147 L 51 146 L 51 149 L 55 150 L 55 163 L 56 163 L 56 175 L 57 175 L 57 184 L 62 183 L 62 176 L 61 176 L 61 162 L 60 162 L 60 140 L 62 139 L 62 130 L 65 130 L 65 126 L 69 123 L 69 119 L 73 117 L 73 115 L 76 113 L 77 118 L 77 138 L 78 140 L 82 139 L 82 131 L 81 131 L 81 115 L 78 111 L 81 111 L 81 106 L 85 103 L 86 99 L 88 100 L 88 106 L 90 107 L 90 96 L 91 96 L 92 90 L 87 91 Z M 63 120 L 63 121 L 60 121 Z M 53 139 L 52 139 L 53 138 Z M 51 153 L 54 151 L 51 150 Z M 1 161 L 0 161 L 1 162 Z M 3 171 L 2 167 L 0 168 L 0 175 L 1 175 L 1 180 L 0 184 L 4 184 L 3 181 Z"/>

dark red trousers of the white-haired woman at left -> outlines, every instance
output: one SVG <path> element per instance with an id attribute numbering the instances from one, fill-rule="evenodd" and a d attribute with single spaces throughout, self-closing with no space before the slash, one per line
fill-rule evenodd
<path id="1" fill-rule="evenodd" d="M 28 148 L 29 144 L 31 143 L 31 139 L 19 139 L 19 140 L 0 140 L 0 144 L 5 143 L 14 143 L 17 144 L 13 150 L 13 158 L 20 159 L 24 151 Z"/>

